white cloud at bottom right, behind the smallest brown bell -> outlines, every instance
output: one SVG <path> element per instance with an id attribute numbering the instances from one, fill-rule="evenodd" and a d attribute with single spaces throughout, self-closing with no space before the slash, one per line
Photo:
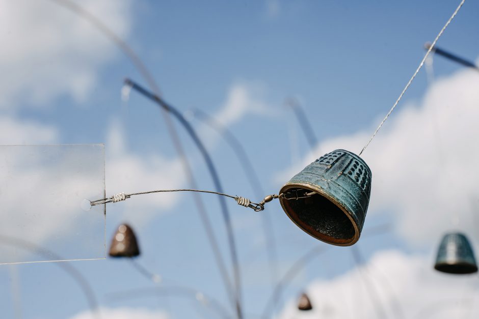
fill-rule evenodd
<path id="1" fill-rule="evenodd" d="M 439 273 L 433 263 L 431 258 L 394 250 L 379 252 L 370 260 L 367 274 L 385 317 L 479 316 L 479 308 L 473 306 L 479 298 L 476 280 Z M 377 318 L 378 306 L 365 288 L 363 272 L 353 269 L 331 280 L 316 280 L 306 288 L 313 310 L 299 311 L 297 300 L 290 300 L 280 318 Z"/>

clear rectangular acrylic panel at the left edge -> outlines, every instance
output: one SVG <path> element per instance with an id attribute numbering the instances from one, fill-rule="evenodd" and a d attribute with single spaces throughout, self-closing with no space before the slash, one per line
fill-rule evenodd
<path id="1" fill-rule="evenodd" d="M 105 258 L 103 144 L 0 146 L 0 264 Z"/>

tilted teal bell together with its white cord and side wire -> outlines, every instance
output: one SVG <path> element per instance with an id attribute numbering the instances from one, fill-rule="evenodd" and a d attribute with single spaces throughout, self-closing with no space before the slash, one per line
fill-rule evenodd
<path id="1" fill-rule="evenodd" d="M 437 40 L 463 4 L 464 0 L 459 4 L 456 11 L 429 46 L 427 53 L 424 55 L 421 63 L 406 84 L 402 93 L 359 155 L 346 150 L 335 150 L 325 154 L 292 177 L 289 182 L 284 184 L 280 189 L 279 194 L 265 196 L 259 203 L 252 202 L 246 197 L 232 196 L 221 192 L 196 189 L 173 189 L 131 194 L 118 193 L 111 197 L 90 201 L 89 204 L 95 206 L 118 202 L 141 194 L 192 191 L 230 197 L 233 198 L 238 205 L 249 207 L 256 212 L 260 212 L 264 210 L 264 205 L 267 202 L 278 198 L 286 215 L 298 225 L 298 227 L 312 237 L 337 246 L 351 246 L 355 244 L 359 240 L 366 217 L 372 177 L 370 168 L 360 155 L 401 101 L 417 73 L 424 65 L 425 60 L 433 50 Z M 137 83 L 131 80 L 128 80 L 128 82 L 140 93 L 151 96 L 155 100 L 161 100 Z"/>

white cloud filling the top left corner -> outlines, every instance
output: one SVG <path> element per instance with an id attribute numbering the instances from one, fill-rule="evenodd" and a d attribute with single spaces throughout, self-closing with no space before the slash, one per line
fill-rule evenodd
<path id="1" fill-rule="evenodd" d="M 129 0 L 79 4 L 128 35 Z M 50 1 L 0 0 L 0 30 L 0 108 L 47 104 L 63 94 L 84 100 L 116 50 L 91 23 Z"/>

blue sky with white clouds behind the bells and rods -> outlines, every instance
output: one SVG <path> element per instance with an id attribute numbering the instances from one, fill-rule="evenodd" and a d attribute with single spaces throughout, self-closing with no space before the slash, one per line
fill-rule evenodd
<path id="1" fill-rule="evenodd" d="M 70 266 L 91 286 L 102 318 L 218 317 L 213 300 L 232 317 L 191 194 L 109 204 L 106 219 L 101 210 L 93 212 L 101 218 L 85 217 L 73 205 L 93 189 L 101 193 L 102 183 L 107 196 L 190 184 L 163 113 L 123 86 L 131 78 L 148 88 L 145 78 L 111 39 L 57 2 L 0 0 L 0 144 L 104 143 L 104 177 L 102 148 L 95 156 L 64 158 L 89 168 L 74 183 L 52 178 L 64 168 L 57 162 L 17 155 L 12 162 L 31 166 L 18 172 L 27 181 L 22 185 L 7 184 L 0 173 L 0 191 L 18 189 L 18 197 L 0 192 L 0 229 L 65 258 L 94 258 L 104 252 L 104 238 L 108 248 L 118 225 L 127 222 L 140 243 L 137 263 L 162 282 L 155 288 L 121 259 L 0 265 L 2 317 L 93 318 L 77 277 L 66 271 Z M 358 154 L 417 68 L 424 43 L 434 40 L 459 1 L 77 3 L 136 52 L 161 96 L 191 121 L 224 192 L 259 201 L 325 153 Z M 478 61 L 478 9 L 477 2 L 466 1 L 437 45 Z M 277 200 L 256 213 L 227 199 L 246 317 L 477 317 L 477 276 L 445 275 L 433 265 L 439 241 L 450 231 L 465 233 L 479 247 L 478 85 L 476 71 L 440 56 L 428 60 L 362 154 L 372 171 L 372 191 L 361 238 L 352 247 L 303 233 Z M 289 98 L 307 114 L 317 138 L 313 148 Z M 195 118 L 195 109 L 242 143 L 264 194 L 251 187 L 234 150 Z M 201 154 L 174 123 L 198 188 L 214 190 Z M 36 188 L 48 193 L 60 182 L 65 186 L 58 201 L 41 200 Z M 218 198 L 201 198 L 231 274 Z M 35 214 L 50 220 L 33 228 L 12 226 Z M 0 248 L 4 258 L 12 253 L 8 245 Z M 276 275 L 268 262 L 272 249 Z M 14 257 L 45 259 L 44 250 L 24 250 L 17 248 Z M 358 252 L 360 260 L 354 258 Z M 305 254 L 311 256 L 307 263 L 288 272 Z M 292 275 L 280 302 L 265 309 L 272 278 L 285 274 Z M 195 293 L 175 293 L 171 287 L 178 286 Z M 313 305 L 308 313 L 296 309 L 302 292 Z"/>

